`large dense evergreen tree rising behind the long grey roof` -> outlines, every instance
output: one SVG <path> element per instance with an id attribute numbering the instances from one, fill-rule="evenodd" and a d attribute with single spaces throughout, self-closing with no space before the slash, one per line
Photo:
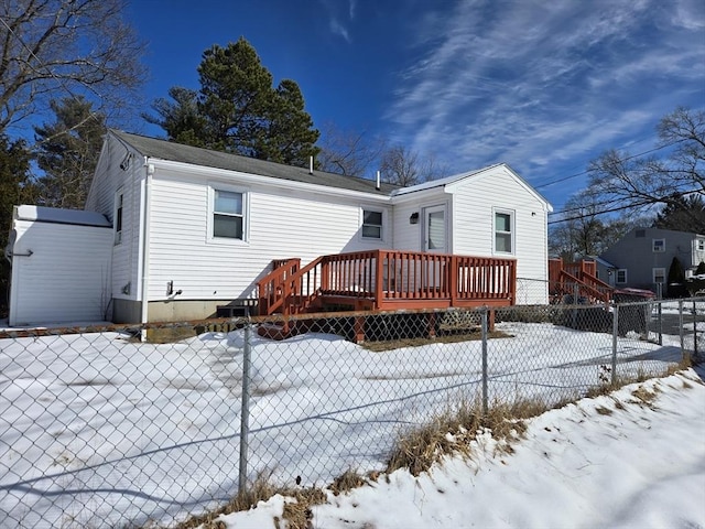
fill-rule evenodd
<path id="1" fill-rule="evenodd" d="M 158 99 L 156 116 L 144 116 L 167 139 L 302 166 L 317 153 L 318 131 L 299 85 L 284 79 L 274 88 L 272 74 L 243 37 L 206 50 L 198 77 L 197 93 L 174 87 L 173 102 Z"/>

